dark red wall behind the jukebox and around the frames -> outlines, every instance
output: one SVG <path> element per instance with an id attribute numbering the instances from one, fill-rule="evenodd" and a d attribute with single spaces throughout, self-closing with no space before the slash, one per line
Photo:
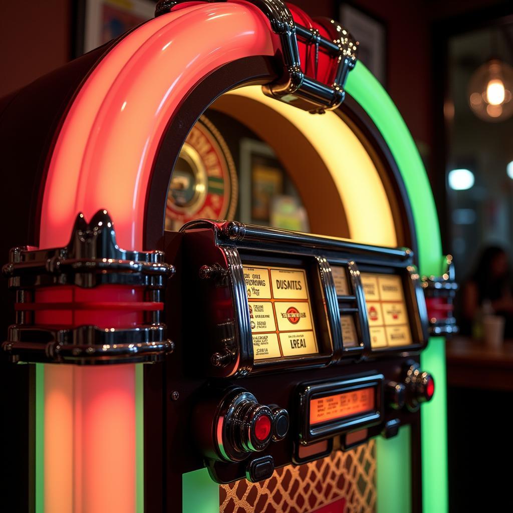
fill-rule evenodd
<path id="1" fill-rule="evenodd" d="M 332 0 L 297 0 L 312 16 L 337 17 Z M 387 28 L 387 90 L 418 143 L 433 179 L 433 22 L 491 7 L 495 0 L 358 0 L 351 5 L 379 18 Z M 77 0 L 0 4 L 0 97 L 22 87 L 71 58 L 72 19 Z"/>

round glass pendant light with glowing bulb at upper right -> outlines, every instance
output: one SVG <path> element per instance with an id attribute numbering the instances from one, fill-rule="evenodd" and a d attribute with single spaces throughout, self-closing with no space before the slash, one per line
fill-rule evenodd
<path id="1" fill-rule="evenodd" d="M 497 58 L 480 66 L 470 79 L 468 102 L 484 121 L 498 122 L 513 114 L 513 68 Z"/>

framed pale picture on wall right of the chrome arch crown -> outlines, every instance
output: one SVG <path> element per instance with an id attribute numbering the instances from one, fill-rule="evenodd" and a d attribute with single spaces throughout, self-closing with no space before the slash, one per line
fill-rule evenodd
<path id="1" fill-rule="evenodd" d="M 343 3 L 339 22 L 360 42 L 358 60 L 386 86 L 386 26 L 378 18 Z"/>

